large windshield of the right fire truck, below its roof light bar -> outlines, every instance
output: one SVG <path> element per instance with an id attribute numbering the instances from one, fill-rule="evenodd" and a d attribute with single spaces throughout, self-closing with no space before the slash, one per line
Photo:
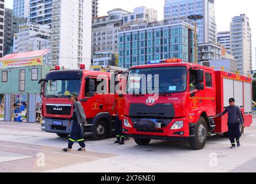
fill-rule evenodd
<path id="1" fill-rule="evenodd" d="M 129 71 L 127 93 L 147 94 L 151 89 L 159 91 L 160 94 L 184 92 L 186 78 L 185 67 L 133 69 Z"/>

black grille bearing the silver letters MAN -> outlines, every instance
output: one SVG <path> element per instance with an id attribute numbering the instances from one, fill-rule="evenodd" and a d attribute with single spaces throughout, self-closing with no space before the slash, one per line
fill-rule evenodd
<path id="1" fill-rule="evenodd" d="M 46 105 L 47 114 L 70 115 L 71 105 Z"/>

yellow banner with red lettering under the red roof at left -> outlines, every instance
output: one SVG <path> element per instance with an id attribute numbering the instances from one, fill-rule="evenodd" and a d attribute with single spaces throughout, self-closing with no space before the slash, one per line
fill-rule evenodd
<path id="1" fill-rule="evenodd" d="M 0 69 L 43 65 L 43 56 L 0 61 Z"/>

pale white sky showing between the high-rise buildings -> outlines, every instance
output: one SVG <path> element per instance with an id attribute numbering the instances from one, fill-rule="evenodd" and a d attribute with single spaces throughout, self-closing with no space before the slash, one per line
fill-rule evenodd
<path id="1" fill-rule="evenodd" d="M 5 7 L 13 7 L 13 0 L 5 1 Z M 158 20 L 163 20 L 165 0 L 99 0 L 99 16 L 106 16 L 109 10 L 121 8 L 133 12 L 135 7 L 146 6 L 158 11 Z M 253 51 L 253 70 L 256 68 L 256 1 L 252 0 L 215 0 L 217 32 L 230 30 L 231 18 L 246 14 L 250 19 Z"/>

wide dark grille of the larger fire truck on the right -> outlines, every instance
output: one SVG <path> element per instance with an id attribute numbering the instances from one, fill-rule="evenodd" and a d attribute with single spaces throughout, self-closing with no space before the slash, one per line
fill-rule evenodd
<path id="1" fill-rule="evenodd" d="M 153 106 L 131 104 L 129 108 L 129 116 L 171 118 L 175 116 L 175 112 L 172 104 L 156 104 Z"/>

